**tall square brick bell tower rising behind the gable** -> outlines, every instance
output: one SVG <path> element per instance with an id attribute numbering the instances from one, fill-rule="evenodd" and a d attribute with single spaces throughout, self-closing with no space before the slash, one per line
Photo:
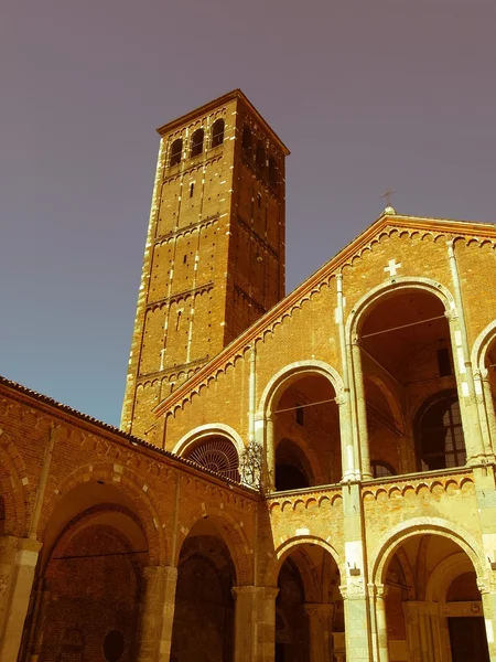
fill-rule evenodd
<path id="1" fill-rule="evenodd" d="M 121 428 L 284 296 L 281 142 L 236 89 L 158 129 L 160 151 Z"/>

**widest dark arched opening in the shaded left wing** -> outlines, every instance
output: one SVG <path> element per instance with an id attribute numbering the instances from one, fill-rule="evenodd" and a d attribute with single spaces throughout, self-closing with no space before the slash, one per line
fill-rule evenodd
<path id="1" fill-rule="evenodd" d="M 26 628 L 35 629 L 28 640 L 41 641 L 31 654 L 39 653 L 40 662 L 134 660 L 147 564 L 133 513 L 109 503 L 79 513 L 55 541 L 37 579 L 47 599 L 42 618 L 26 619 Z"/>

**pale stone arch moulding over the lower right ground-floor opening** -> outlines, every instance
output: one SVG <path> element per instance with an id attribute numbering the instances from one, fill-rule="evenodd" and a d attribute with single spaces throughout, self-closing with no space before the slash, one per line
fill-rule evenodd
<path id="1" fill-rule="evenodd" d="M 478 543 L 464 528 L 441 517 L 418 517 L 409 522 L 402 522 L 385 534 L 377 544 L 377 552 L 371 563 L 371 581 L 384 584 L 385 570 L 399 545 L 410 537 L 424 534 L 444 536 L 461 547 L 471 559 L 477 579 L 486 584 L 485 557 Z"/>

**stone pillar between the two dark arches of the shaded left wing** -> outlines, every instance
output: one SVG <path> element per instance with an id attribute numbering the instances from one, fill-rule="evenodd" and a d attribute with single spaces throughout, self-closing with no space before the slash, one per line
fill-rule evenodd
<path id="1" fill-rule="evenodd" d="M 144 600 L 138 662 L 169 662 L 174 622 L 177 568 L 149 566 L 143 570 Z"/>

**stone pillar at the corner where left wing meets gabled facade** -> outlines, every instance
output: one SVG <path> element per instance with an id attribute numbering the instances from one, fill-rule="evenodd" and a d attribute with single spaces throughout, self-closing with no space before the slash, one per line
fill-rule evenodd
<path id="1" fill-rule="evenodd" d="M 273 662 L 278 588 L 235 586 L 235 662 Z"/>

